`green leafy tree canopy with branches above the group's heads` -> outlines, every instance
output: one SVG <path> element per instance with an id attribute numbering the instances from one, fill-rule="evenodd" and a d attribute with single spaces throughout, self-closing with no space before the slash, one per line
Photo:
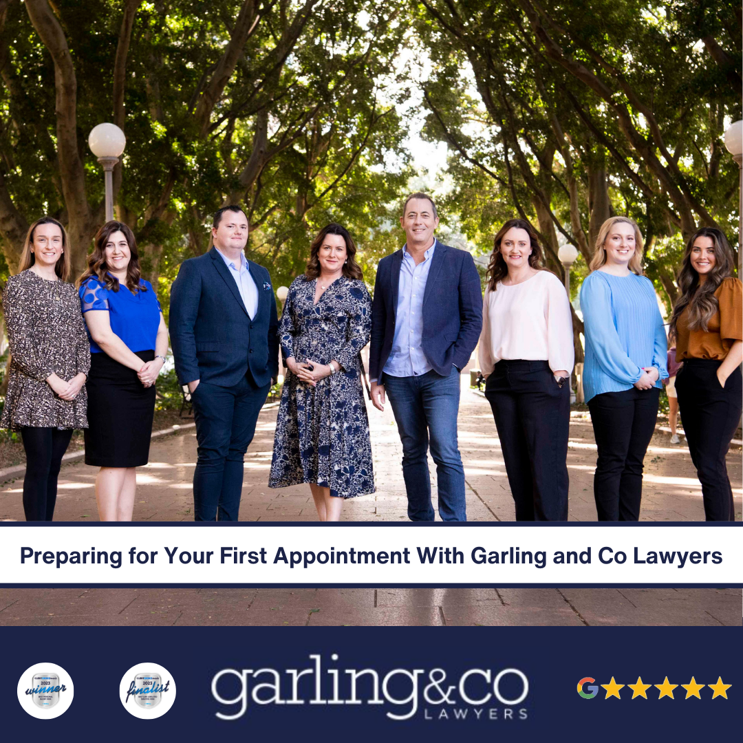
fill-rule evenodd
<path id="1" fill-rule="evenodd" d="M 400 64 L 411 50 L 422 82 Z M 683 239 L 737 231 L 722 137 L 741 118 L 741 53 L 730 0 L 0 0 L 0 271 L 43 214 L 82 271 L 104 218 L 87 145 L 102 121 L 126 134 L 117 218 L 162 299 L 229 203 L 276 286 L 328 221 L 373 269 L 400 244 L 419 85 L 423 135 L 450 152 L 444 221 L 476 252 L 521 215 L 552 270 L 570 241 L 585 272 L 600 224 L 626 214 L 670 305 Z"/>

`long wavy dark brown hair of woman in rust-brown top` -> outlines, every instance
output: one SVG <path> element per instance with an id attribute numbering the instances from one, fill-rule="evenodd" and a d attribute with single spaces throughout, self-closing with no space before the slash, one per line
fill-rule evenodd
<path id="1" fill-rule="evenodd" d="M 708 237 L 715 248 L 715 265 L 707 279 L 700 286 L 699 274 L 692 266 L 692 249 L 697 238 Z M 684 259 L 681 261 L 681 270 L 678 272 L 676 283 L 681 290 L 681 296 L 676 300 L 671 316 L 670 332 L 676 333 L 676 324 L 681 313 L 689 308 L 689 329 L 701 328 L 705 333 L 710 319 L 719 310 L 715 291 L 729 276 L 733 276 L 733 249 L 721 230 L 716 227 L 701 227 L 687 242 L 684 250 Z"/>

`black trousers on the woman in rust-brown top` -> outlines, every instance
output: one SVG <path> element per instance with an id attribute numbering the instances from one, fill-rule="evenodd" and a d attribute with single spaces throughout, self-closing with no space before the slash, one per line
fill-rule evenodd
<path id="1" fill-rule="evenodd" d="M 741 417 L 743 379 L 739 367 L 721 387 L 717 378 L 721 363 L 686 359 L 676 374 L 678 409 L 701 482 L 707 521 L 735 520 L 725 455 Z"/>

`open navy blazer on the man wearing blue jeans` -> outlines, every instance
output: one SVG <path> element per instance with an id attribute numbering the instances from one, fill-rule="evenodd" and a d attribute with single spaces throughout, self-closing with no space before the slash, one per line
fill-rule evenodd
<path id="1" fill-rule="evenodd" d="M 369 378 L 380 380 L 395 337 L 400 266 L 398 250 L 379 262 L 371 305 Z M 448 377 L 452 364 L 464 369 L 482 328 L 480 274 L 466 250 L 436 242 L 423 298 L 423 352 L 437 374 Z"/>

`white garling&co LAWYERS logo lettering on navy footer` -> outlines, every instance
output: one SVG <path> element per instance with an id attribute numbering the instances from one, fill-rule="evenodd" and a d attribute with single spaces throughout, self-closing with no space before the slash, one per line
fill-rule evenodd
<path id="1" fill-rule="evenodd" d="M 303 669 L 225 668 L 212 678 L 212 696 L 227 707 L 215 715 L 237 720 L 253 705 L 380 705 L 395 721 L 477 721 L 528 718 L 529 681 L 517 668 L 470 668 L 451 676 L 443 668 L 323 668 L 322 655 L 309 655 Z M 339 657 L 330 656 L 334 663 Z M 450 683 L 453 682 L 453 683 Z M 390 708 L 391 707 L 391 708 Z"/>

